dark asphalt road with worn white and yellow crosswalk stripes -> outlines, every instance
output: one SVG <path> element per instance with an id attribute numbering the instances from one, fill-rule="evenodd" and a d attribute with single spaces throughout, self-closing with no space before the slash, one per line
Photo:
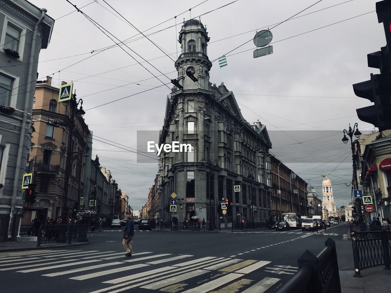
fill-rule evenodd
<path id="1" fill-rule="evenodd" d="M 348 229 L 340 224 L 323 235 L 136 228 L 131 258 L 122 247 L 123 228 L 108 229 L 81 247 L 0 253 L 0 292 L 270 293 L 297 271 L 305 250 L 317 255 L 327 238 L 336 243 L 340 269 L 352 268 Z"/>

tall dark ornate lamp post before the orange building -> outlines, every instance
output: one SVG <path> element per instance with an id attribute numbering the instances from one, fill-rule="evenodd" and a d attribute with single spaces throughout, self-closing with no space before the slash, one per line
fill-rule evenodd
<path id="1" fill-rule="evenodd" d="M 77 109 L 77 106 L 80 104 L 80 108 Z M 72 148 L 72 137 L 75 128 L 75 109 L 77 109 L 76 113 L 79 117 L 83 117 L 86 112 L 83 110 L 83 100 L 76 100 L 76 92 L 72 95 L 72 98 L 69 101 L 69 104 L 63 102 L 63 105 L 70 105 L 71 107 L 71 123 L 69 129 L 69 138 L 68 138 L 68 147 L 67 147 L 67 155 L 66 155 L 66 165 L 65 165 L 65 182 L 64 182 L 64 200 L 63 200 L 63 211 L 62 216 L 63 219 L 66 220 L 68 218 L 68 185 L 69 185 L 69 173 L 70 173 L 70 164 L 71 164 L 71 148 Z"/>

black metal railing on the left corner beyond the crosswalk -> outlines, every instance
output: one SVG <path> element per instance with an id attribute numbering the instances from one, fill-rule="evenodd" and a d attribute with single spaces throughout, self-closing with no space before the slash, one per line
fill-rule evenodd
<path id="1" fill-rule="evenodd" d="M 68 243 L 86 241 L 86 225 L 41 225 L 37 247 L 45 243 Z"/>

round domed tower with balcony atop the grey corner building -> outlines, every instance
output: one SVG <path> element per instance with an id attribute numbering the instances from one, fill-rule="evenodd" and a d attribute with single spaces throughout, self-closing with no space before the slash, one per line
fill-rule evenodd
<path id="1" fill-rule="evenodd" d="M 209 88 L 209 71 L 212 62 L 208 58 L 208 32 L 199 20 L 183 20 L 178 42 L 181 44 L 181 55 L 175 63 L 178 81 L 185 90 Z M 190 79 L 186 71 L 193 74 L 198 82 Z"/>

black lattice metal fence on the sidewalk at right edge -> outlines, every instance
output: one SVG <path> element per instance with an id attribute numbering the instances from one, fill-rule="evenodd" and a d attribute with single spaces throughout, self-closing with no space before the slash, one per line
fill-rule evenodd
<path id="1" fill-rule="evenodd" d="M 381 226 L 368 226 L 381 227 Z M 362 227 L 360 227 L 362 228 Z M 381 266 L 390 270 L 391 231 L 351 230 L 355 277 L 362 277 L 361 270 Z"/>

